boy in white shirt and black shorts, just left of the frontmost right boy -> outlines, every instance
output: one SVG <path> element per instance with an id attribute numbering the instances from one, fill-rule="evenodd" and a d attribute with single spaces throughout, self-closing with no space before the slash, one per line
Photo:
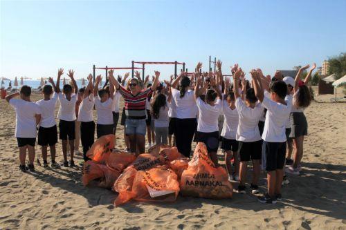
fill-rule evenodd
<path id="1" fill-rule="evenodd" d="M 234 77 L 234 86 L 239 85 L 239 77 L 243 75 L 241 68 L 237 68 Z M 264 108 L 257 103 L 257 97 L 253 88 L 246 90 L 245 103 L 243 102 L 239 88 L 235 90 L 235 107 L 239 113 L 239 125 L 237 128 L 236 140 L 239 142 L 238 153 L 240 157 L 240 183 L 238 193 L 246 193 L 245 181 L 248 161 L 253 162 L 253 180 L 251 191 L 256 194 L 258 190 L 258 180 L 260 179 L 260 161 L 262 158 L 262 141 L 258 129 L 258 121 L 262 116 Z"/>

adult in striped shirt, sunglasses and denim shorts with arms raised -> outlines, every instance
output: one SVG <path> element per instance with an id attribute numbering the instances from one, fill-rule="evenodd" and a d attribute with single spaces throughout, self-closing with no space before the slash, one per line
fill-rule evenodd
<path id="1" fill-rule="evenodd" d="M 145 152 L 145 131 L 147 111 L 145 110 L 145 101 L 147 96 L 156 90 L 160 72 L 155 71 L 155 79 L 152 87 L 142 89 L 140 82 L 136 78 L 129 79 L 127 83 L 129 90 L 122 87 L 113 77 L 113 70 L 109 70 L 109 80 L 116 86 L 125 100 L 125 133 L 129 137 L 130 150 L 137 155 Z"/>

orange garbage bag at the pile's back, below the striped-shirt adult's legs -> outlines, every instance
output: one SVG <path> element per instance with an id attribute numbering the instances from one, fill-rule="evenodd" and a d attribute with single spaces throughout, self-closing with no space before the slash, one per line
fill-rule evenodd
<path id="1" fill-rule="evenodd" d="M 129 164 L 134 162 L 134 160 L 136 160 L 136 156 L 131 153 L 113 151 L 109 153 L 106 165 L 109 166 L 111 169 L 115 169 L 119 173 L 122 173 L 122 171 Z"/>

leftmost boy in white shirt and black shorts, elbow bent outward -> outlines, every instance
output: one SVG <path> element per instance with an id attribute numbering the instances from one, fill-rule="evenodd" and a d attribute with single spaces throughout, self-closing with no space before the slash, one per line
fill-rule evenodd
<path id="1" fill-rule="evenodd" d="M 36 142 L 36 126 L 41 120 L 41 111 L 35 102 L 30 101 L 31 88 L 29 86 L 22 86 L 20 93 L 12 93 L 5 97 L 6 101 L 15 108 L 16 111 L 16 130 L 15 137 L 17 137 L 19 147 L 19 169 L 26 171 L 25 166 L 26 150 L 29 155 L 28 169 L 35 171 L 35 142 Z M 14 99 L 20 95 L 20 99 Z"/>

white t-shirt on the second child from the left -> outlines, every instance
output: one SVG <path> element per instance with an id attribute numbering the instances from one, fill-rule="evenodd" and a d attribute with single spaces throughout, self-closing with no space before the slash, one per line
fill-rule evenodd
<path id="1" fill-rule="evenodd" d="M 39 109 L 41 110 L 41 122 L 39 122 L 39 126 L 44 128 L 55 126 L 57 122 L 55 122 L 54 111 L 57 104 L 57 93 L 54 92 L 51 99 L 41 99 L 36 104 L 39 105 Z"/>

